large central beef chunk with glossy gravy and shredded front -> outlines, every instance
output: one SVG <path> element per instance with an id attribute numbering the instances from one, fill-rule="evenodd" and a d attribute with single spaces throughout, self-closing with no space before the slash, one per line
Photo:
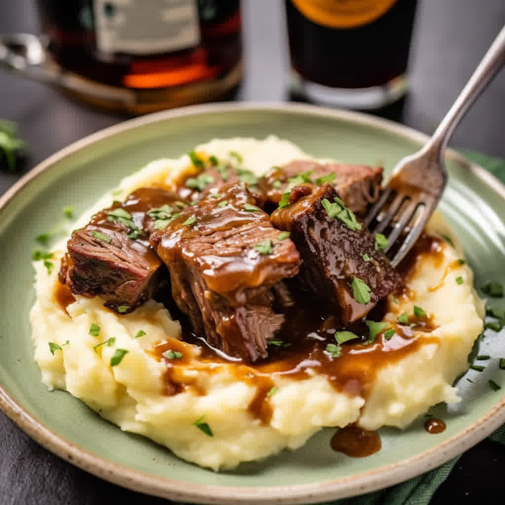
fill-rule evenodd
<path id="1" fill-rule="evenodd" d="M 284 319 L 272 309 L 272 288 L 300 264 L 294 244 L 255 204 L 245 185 L 223 187 L 151 236 L 194 331 L 248 362 L 267 356 Z"/>

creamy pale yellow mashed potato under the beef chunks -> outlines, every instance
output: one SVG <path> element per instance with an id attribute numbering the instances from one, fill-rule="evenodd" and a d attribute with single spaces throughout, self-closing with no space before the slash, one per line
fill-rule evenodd
<path id="1" fill-rule="evenodd" d="M 292 143 L 273 136 L 265 140 L 212 140 L 195 150 L 220 159 L 228 159 L 232 150 L 238 151 L 244 165 L 258 174 L 294 158 L 309 158 Z M 151 183 L 170 185 L 189 166 L 187 156 L 152 162 L 125 178 L 114 198 Z M 102 198 L 77 226 L 84 226 L 94 211 L 107 207 L 112 199 L 112 195 Z M 472 271 L 467 265 L 448 269 L 462 257 L 457 238 L 439 214 L 428 230 L 450 236 L 455 247 L 444 243 L 441 260 L 440 255 L 436 263 L 426 257 L 417 264 L 408 285 L 415 299 L 406 295 L 396 304 L 391 297 L 386 320 L 412 313 L 415 302 L 432 315 L 438 327 L 429 334 L 416 331 L 418 339 L 426 338 L 429 343 L 378 370 L 366 398 L 337 391 L 317 369 L 307 369 L 304 380 L 273 375 L 277 390 L 268 398 L 272 417 L 262 424 L 248 410 L 256 386 L 237 380 L 233 364 L 201 363 L 200 349 L 189 344 L 191 358 L 184 365 L 175 365 L 174 373 L 181 382 L 191 382 L 197 388 L 166 395 L 165 365 L 152 351 L 155 344 L 167 339 L 181 339 L 179 323 L 155 301 L 118 316 L 105 309 L 99 298 L 77 296 L 67 314 L 54 296 L 66 240 L 54 248 L 51 274 L 42 262 L 34 263 L 37 298 L 30 318 L 42 381 L 49 389 L 66 389 L 122 430 L 147 436 L 180 458 L 214 470 L 265 458 L 285 447 L 296 449 L 325 426 L 343 427 L 358 421 L 371 430 L 381 426 L 405 428 L 435 403 L 459 400 L 451 384 L 467 369 L 467 356 L 482 330 L 483 306 L 472 287 Z M 463 284 L 456 282 L 459 276 Z M 89 334 L 93 323 L 100 328 L 97 337 Z M 145 335 L 135 338 L 140 330 Z M 111 337 L 115 338 L 112 345 L 94 349 Z M 52 354 L 49 342 L 61 349 Z M 128 353 L 119 365 L 111 367 L 111 357 L 118 348 Z M 193 424 L 203 415 L 212 437 Z"/>

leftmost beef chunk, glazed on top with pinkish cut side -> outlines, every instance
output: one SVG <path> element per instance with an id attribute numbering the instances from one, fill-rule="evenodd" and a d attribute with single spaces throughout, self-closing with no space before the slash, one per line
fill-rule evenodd
<path id="1" fill-rule="evenodd" d="M 149 236 L 185 206 L 179 195 L 161 188 L 141 188 L 115 202 L 72 233 L 60 281 L 73 294 L 102 297 L 120 314 L 133 311 L 167 280 Z"/>

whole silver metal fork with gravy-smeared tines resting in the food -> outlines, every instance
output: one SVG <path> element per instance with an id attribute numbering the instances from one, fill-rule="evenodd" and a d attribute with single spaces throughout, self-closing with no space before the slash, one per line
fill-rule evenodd
<path id="1" fill-rule="evenodd" d="M 387 237 L 385 253 L 391 249 L 398 237 L 408 230 L 405 240 L 391 260 L 393 267 L 405 258 L 442 197 L 447 183 L 444 151 L 449 138 L 475 99 L 504 63 L 505 27 L 494 39 L 430 140 L 416 154 L 403 158 L 396 165 L 381 197 L 365 218 L 365 224 L 375 233 L 382 233 L 393 223 L 392 231 Z M 387 207 L 386 202 L 390 202 Z M 377 224 L 372 228 L 374 222 Z"/>

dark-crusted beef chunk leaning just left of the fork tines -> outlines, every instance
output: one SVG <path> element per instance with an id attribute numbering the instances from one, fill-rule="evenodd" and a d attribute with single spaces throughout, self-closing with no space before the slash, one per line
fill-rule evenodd
<path id="1" fill-rule="evenodd" d="M 312 194 L 277 209 L 271 220 L 277 228 L 291 232 L 303 260 L 299 280 L 330 312 L 338 312 L 345 325 L 364 317 L 401 284 L 401 279 L 382 251 L 375 250 L 374 236 L 341 200 L 335 200 L 336 196 L 335 189 L 325 183 Z M 328 207 L 331 204 L 336 205 Z M 339 209 L 343 219 L 330 217 Z M 368 286 L 365 291 L 370 290 L 367 303 L 360 296 L 357 298 L 362 302 L 355 299 L 352 285 L 354 282 L 358 287 L 358 281 Z"/>

